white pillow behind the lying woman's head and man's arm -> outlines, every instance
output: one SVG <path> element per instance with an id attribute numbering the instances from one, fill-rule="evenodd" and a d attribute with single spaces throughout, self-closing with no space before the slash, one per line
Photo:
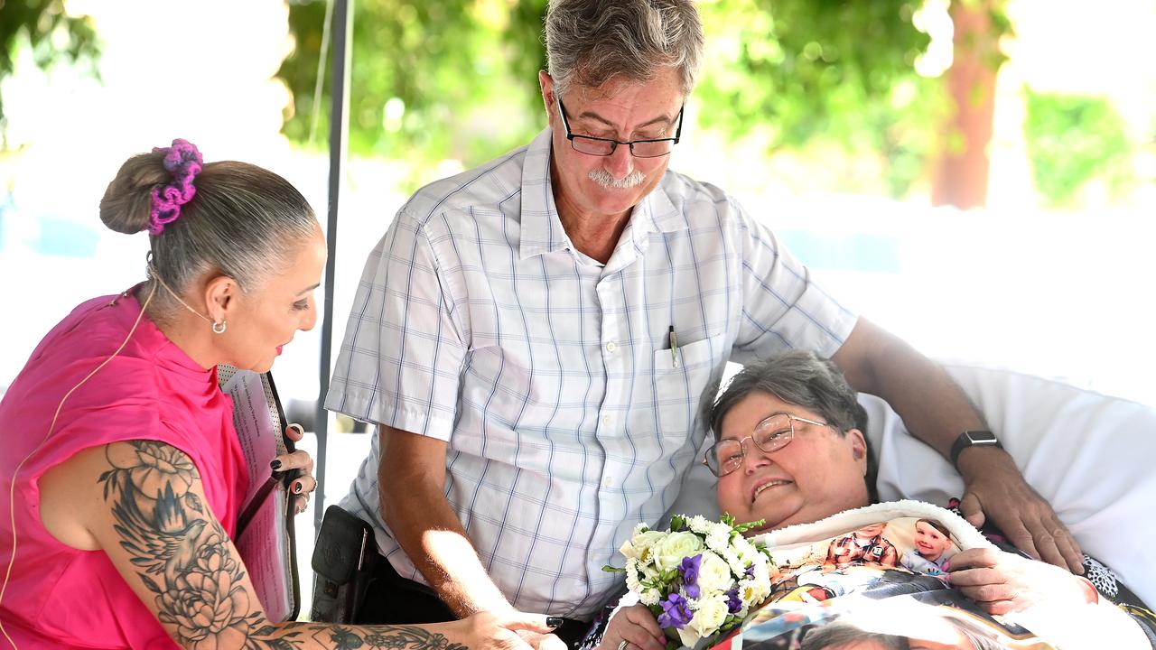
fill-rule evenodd
<path id="1" fill-rule="evenodd" d="M 1083 551 L 1156 603 L 1156 408 L 1009 370 L 943 367 Z M 868 394 L 859 401 L 870 418 L 882 501 L 963 496 L 955 468 L 907 433 L 887 402 Z"/>

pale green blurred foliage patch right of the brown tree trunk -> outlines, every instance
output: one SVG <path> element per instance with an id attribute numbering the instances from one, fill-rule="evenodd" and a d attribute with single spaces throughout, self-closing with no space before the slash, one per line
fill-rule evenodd
<path id="1" fill-rule="evenodd" d="M 1133 180 L 1124 118 L 1104 97 L 1025 88 L 1024 140 L 1036 191 L 1050 207 L 1073 207 L 1094 179 L 1119 195 Z"/>

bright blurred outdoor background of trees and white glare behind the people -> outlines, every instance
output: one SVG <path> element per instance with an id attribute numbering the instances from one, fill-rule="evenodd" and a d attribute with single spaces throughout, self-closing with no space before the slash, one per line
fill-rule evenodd
<path id="1" fill-rule="evenodd" d="M 546 0 L 350 3 L 339 339 L 362 260 L 408 194 L 546 125 Z M 703 71 L 673 169 L 729 191 L 852 308 L 929 354 L 1088 385 L 1139 375 L 1134 344 L 1084 327 L 1069 303 L 1156 317 L 1124 288 L 1156 273 L 1138 266 L 1156 214 L 1156 5 L 698 6 Z M 332 7 L 0 0 L 0 272 L 43 266 L 77 300 L 138 276 L 140 244 L 102 228 L 96 201 L 125 157 L 177 135 L 325 206 Z M 35 310 L 14 349 L 68 300 Z M 944 319 L 957 313 L 999 316 Z M 280 365 L 307 377 L 314 359 Z M 0 368 L 0 389 L 21 361 Z"/>

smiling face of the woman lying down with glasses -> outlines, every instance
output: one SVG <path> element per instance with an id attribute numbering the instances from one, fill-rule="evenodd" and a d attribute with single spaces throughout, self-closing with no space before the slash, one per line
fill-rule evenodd
<path id="1" fill-rule="evenodd" d="M 747 438 L 775 413 L 823 421 L 817 413 L 755 391 L 727 412 L 719 438 Z M 867 505 L 866 449 L 859 429 L 839 435 L 829 426 L 799 421 L 791 443 L 770 453 L 747 440 L 740 467 L 719 479 L 719 508 L 739 522 L 766 519 L 762 530 L 770 530 Z"/>

